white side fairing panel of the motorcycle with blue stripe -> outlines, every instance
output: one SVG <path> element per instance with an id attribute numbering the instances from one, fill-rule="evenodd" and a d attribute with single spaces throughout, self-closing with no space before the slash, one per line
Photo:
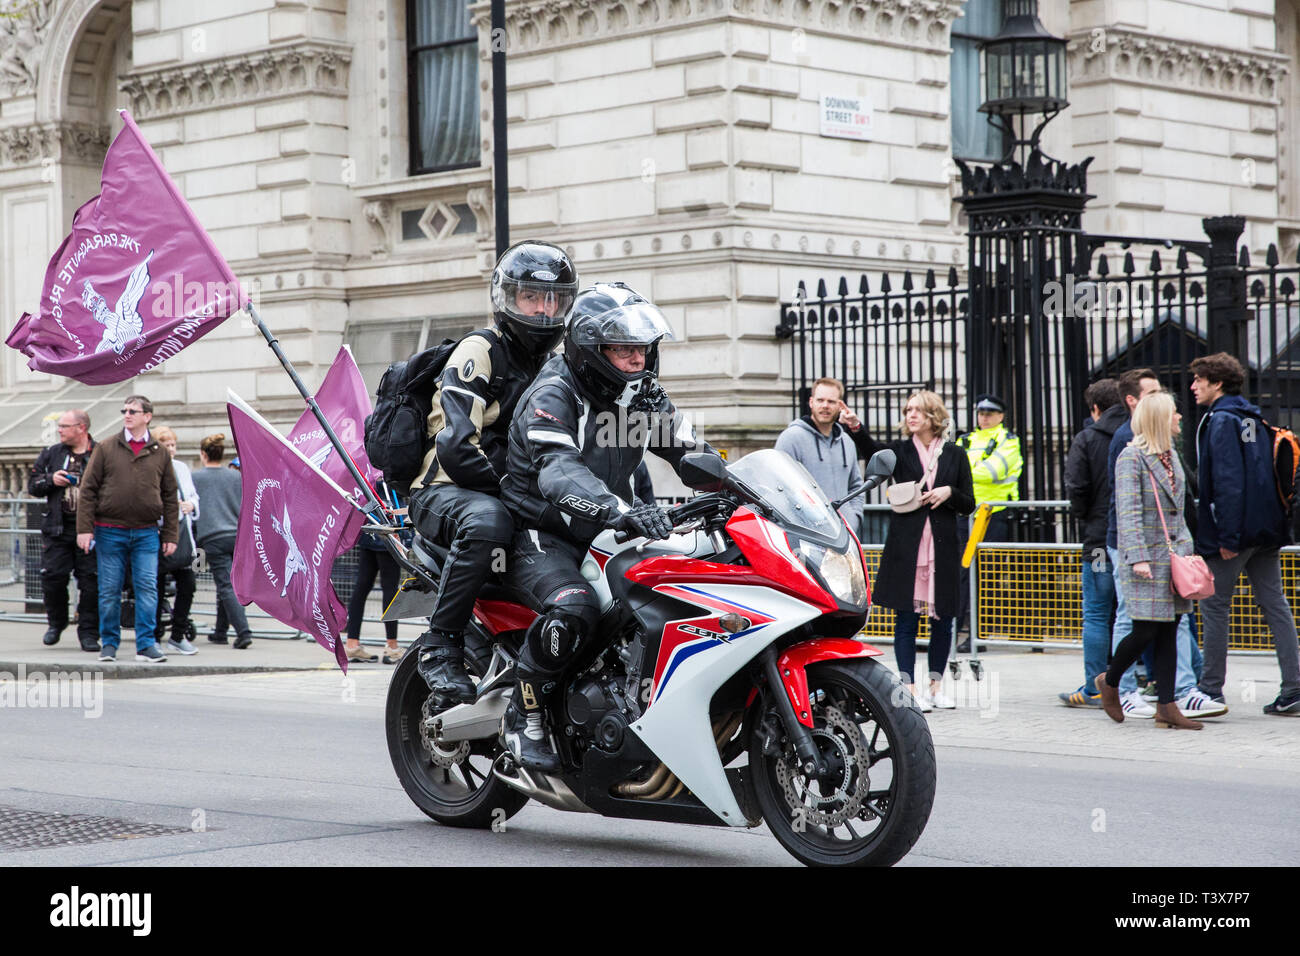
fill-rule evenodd
<path id="1" fill-rule="evenodd" d="M 698 650 L 685 654 L 686 645 L 670 654 L 673 667 L 664 685 L 656 685 L 653 705 L 632 726 L 659 760 L 699 801 L 729 826 L 746 826 L 736 803 L 714 741 L 708 705 L 714 695 L 768 644 L 823 614 L 807 601 L 783 594 L 771 587 L 736 584 L 696 584 L 679 581 L 681 593 L 673 600 L 701 607 L 702 615 L 728 613 L 751 620 L 759 615 L 768 623 L 728 635 L 731 640 L 702 639 Z M 666 594 L 666 597 L 668 597 Z"/>

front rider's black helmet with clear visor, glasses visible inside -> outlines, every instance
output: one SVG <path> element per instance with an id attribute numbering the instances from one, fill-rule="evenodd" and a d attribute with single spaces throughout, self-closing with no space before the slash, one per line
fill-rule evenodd
<path id="1" fill-rule="evenodd" d="M 663 312 L 623 282 L 598 282 L 573 300 L 564 333 L 564 360 L 592 398 L 601 405 L 651 410 L 663 398 L 659 388 L 659 339 L 672 338 Z M 604 346 L 646 346 L 640 372 L 623 372 L 606 358 Z"/>

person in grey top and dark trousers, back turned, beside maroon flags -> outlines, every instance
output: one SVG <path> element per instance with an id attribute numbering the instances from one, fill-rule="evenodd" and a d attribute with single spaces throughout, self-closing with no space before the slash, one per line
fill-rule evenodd
<path id="1" fill-rule="evenodd" d="M 194 472 L 194 486 L 203 499 L 203 514 L 195 524 L 199 548 L 212 571 L 212 583 L 217 588 L 217 604 L 225 611 L 225 618 L 235 628 L 237 650 L 252 644 L 252 631 L 243 605 L 235 597 L 230 584 L 230 564 L 234 561 L 235 535 L 239 531 L 239 505 L 243 479 L 238 471 L 221 463 L 226 453 L 226 436 L 209 434 L 199 442 L 199 462 L 202 468 Z M 213 644 L 226 644 L 226 631 L 221 630 L 221 619 L 208 640 Z"/>

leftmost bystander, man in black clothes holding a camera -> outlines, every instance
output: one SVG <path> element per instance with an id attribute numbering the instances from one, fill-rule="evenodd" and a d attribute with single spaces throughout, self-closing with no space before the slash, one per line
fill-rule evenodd
<path id="1" fill-rule="evenodd" d="M 44 644 L 68 627 L 68 581 L 77 575 L 77 639 L 99 653 L 99 579 L 94 553 L 77 548 L 78 483 L 95 449 L 90 415 L 70 408 L 58 416 L 58 442 L 40 453 L 27 477 L 27 494 L 46 499 L 40 518 L 40 592 L 49 626 Z"/>

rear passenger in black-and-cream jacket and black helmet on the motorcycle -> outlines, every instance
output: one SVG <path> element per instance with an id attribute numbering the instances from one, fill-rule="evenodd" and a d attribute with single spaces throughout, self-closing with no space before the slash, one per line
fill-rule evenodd
<path id="1" fill-rule="evenodd" d="M 420 676 L 448 706 L 474 700 L 464 631 L 494 563 L 504 570 L 514 533 L 499 496 L 515 406 L 559 345 L 576 294 L 577 271 L 558 246 L 507 248 L 491 276 L 495 325 L 460 339 L 434 390 L 433 446 L 410 514 L 421 536 L 450 549 L 429 630 L 416 643 Z"/>

